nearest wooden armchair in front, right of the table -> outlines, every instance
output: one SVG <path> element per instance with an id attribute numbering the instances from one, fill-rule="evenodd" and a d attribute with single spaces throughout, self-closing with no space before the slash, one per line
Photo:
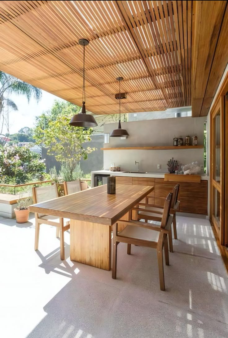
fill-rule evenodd
<path id="1" fill-rule="evenodd" d="M 169 250 L 167 235 L 173 221 L 173 215 L 170 215 L 172 193 L 169 193 L 165 200 L 164 211 L 162 215 L 161 227 L 150 223 L 140 221 L 122 221 L 127 224 L 124 230 L 118 233 L 118 223 L 113 228 L 113 262 L 112 278 L 116 279 L 117 264 L 117 245 L 127 243 L 127 254 L 131 254 L 131 244 L 138 246 L 147 246 L 157 250 L 160 289 L 165 291 L 164 268 L 163 268 L 163 247 L 165 250 L 166 265 L 169 265 Z"/>

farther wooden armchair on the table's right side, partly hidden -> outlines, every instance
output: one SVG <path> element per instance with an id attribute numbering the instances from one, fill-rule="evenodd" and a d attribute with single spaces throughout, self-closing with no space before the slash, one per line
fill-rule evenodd
<path id="1" fill-rule="evenodd" d="M 173 215 L 173 233 L 174 238 L 177 239 L 177 232 L 176 232 L 176 211 L 179 208 L 179 201 L 177 200 L 179 192 L 179 184 L 177 184 L 173 188 L 172 200 L 171 200 L 171 209 L 170 213 Z M 139 208 L 135 208 L 134 210 L 138 211 L 138 220 L 145 219 L 145 222 L 150 221 L 157 221 L 161 222 L 162 214 L 163 214 L 163 207 L 157 206 L 155 204 L 148 204 L 148 203 L 139 203 Z M 141 211 L 143 209 L 143 211 Z M 143 216 L 143 217 L 142 217 Z M 172 228 L 170 228 L 170 234 L 168 236 L 169 239 L 169 250 L 173 252 L 173 240 L 172 240 Z"/>

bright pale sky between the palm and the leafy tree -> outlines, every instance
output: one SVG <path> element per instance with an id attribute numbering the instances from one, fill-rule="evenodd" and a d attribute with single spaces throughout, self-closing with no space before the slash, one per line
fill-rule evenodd
<path id="1" fill-rule="evenodd" d="M 10 95 L 10 99 L 13 100 L 18 107 L 18 111 L 9 110 L 9 134 L 15 134 L 19 129 L 23 127 L 34 127 L 35 116 L 42 114 L 42 112 L 49 110 L 54 100 L 63 101 L 61 98 L 52 95 L 42 90 L 42 98 L 37 103 L 33 98 L 29 103 L 24 95 Z M 3 129 L 5 134 L 6 128 Z"/>

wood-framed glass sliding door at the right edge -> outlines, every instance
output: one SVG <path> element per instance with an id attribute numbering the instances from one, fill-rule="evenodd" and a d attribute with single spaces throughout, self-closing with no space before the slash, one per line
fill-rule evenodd
<path id="1" fill-rule="evenodd" d="M 210 112 L 210 221 L 228 246 L 228 79 Z"/>

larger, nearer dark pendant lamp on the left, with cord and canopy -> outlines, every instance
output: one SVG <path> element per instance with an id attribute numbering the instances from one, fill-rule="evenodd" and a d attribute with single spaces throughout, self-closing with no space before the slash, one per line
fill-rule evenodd
<path id="1" fill-rule="evenodd" d="M 79 45 L 83 46 L 83 89 L 82 89 L 82 109 L 81 112 L 75 114 L 70 120 L 70 125 L 74 127 L 96 127 L 97 123 L 92 115 L 86 114 L 85 109 L 85 46 L 88 46 L 89 41 L 86 39 L 80 39 Z"/>

